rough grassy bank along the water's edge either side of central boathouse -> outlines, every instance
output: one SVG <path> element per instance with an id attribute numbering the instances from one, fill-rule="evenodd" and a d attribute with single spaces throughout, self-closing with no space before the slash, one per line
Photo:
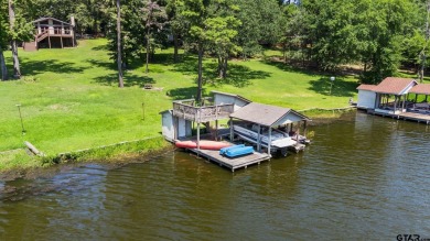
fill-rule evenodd
<path id="1" fill-rule="evenodd" d="M 347 109 L 334 112 L 332 110 L 309 110 L 313 119 L 311 127 L 333 123 L 355 109 Z M 326 114 L 330 112 L 330 114 Z M 342 120 L 342 119 L 341 119 Z M 51 156 L 34 156 L 39 161 L 35 166 L 14 166 L 0 171 L 0 180 L 13 180 L 18 178 L 34 179 L 55 175 L 58 172 L 78 167 L 87 164 L 101 164 L 109 168 L 119 168 L 132 163 L 143 163 L 149 160 L 174 151 L 175 147 L 162 136 L 148 138 L 138 141 L 120 142 L 111 145 L 80 150 L 68 153 L 58 153 Z"/>

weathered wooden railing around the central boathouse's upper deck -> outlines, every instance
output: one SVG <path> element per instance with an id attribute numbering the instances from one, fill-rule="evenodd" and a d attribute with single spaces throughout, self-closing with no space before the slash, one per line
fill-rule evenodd
<path id="1" fill-rule="evenodd" d="M 173 116 L 197 123 L 226 119 L 234 111 L 234 105 L 193 107 L 184 102 L 173 102 Z"/>

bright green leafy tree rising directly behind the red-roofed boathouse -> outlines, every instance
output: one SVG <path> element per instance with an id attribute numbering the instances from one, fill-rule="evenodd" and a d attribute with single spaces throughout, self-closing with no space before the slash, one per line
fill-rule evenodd
<path id="1" fill-rule="evenodd" d="M 415 6 L 407 0 L 363 0 L 367 31 L 363 32 L 362 80 L 377 84 L 395 76 L 402 59 L 402 40 L 413 34 Z M 364 21 L 364 20 L 363 20 Z"/>

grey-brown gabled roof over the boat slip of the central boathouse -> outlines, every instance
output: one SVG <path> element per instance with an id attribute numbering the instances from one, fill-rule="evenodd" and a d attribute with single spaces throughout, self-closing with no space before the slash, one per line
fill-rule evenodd
<path id="1" fill-rule="evenodd" d="M 230 114 L 230 118 L 236 118 L 257 124 L 271 127 L 281 118 L 289 113 L 293 113 L 303 120 L 309 120 L 308 117 L 289 108 L 268 106 L 264 103 L 250 102 L 247 106 L 238 109 Z"/>

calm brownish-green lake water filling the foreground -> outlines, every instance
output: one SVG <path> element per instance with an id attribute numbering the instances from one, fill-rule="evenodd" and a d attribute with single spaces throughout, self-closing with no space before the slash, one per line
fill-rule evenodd
<path id="1" fill-rule="evenodd" d="M 353 113 L 232 173 L 187 153 L 0 182 L 0 240 L 430 238 L 430 127 Z"/>

